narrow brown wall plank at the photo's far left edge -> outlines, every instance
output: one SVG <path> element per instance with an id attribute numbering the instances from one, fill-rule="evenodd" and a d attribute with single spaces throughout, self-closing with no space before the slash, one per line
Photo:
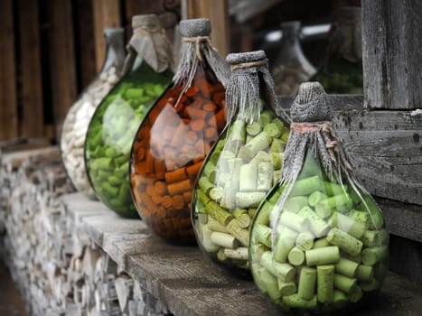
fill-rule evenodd
<path id="1" fill-rule="evenodd" d="M 13 1 L 0 1 L 0 140 L 18 136 Z"/>

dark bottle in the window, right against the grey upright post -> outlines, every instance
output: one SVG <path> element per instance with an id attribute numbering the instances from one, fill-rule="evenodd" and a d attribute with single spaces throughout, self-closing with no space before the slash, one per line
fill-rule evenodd
<path id="1" fill-rule="evenodd" d="M 334 13 L 324 65 L 313 80 L 328 93 L 362 94 L 361 8 L 345 6 Z"/>

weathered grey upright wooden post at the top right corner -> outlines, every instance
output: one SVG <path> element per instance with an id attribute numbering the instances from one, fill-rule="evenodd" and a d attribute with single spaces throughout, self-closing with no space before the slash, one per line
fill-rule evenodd
<path id="1" fill-rule="evenodd" d="M 422 1 L 363 0 L 364 107 L 422 107 Z"/>

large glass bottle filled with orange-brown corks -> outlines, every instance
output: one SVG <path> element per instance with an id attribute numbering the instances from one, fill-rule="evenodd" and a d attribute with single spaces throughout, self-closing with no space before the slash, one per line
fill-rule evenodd
<path id="1" fill-rule="evenodd" d="M 193 182 L 225 121 L 227 63 L 211 46 L 208 19 L 183 20 L 181 59 L 173 84 L 136 133 L 130 180 L 141 218 L 158 236 L 194 243 Z"/>

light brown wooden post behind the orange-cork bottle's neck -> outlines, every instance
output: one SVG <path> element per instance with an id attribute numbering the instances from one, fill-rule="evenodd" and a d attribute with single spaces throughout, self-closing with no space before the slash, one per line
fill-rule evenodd
<path id="1" fill-rule="evenodd" d="M 211 21 L 211 42 L 225 57 L 230 52 L 229 5 L 227 0 L 188 0 L 188 19 Z"/>

